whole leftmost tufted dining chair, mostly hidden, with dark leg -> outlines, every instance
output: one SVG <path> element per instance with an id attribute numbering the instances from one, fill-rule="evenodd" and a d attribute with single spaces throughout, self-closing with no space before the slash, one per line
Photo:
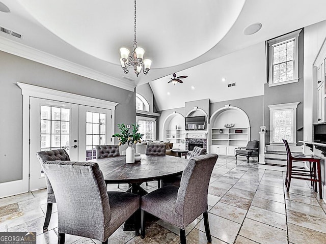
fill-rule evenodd
<path id="1" fill-rule="evenodd" d="M 38 151 L 36 153 L 36 156 L 40 161 L 42 169 L 43 169 L 43 163 L 47 160 L 70 161 L 69 155 L 67 154 L 65 149 Z M 47 178 L 46 173 L 44 173 L 44 177 L 45 177 L 46 189 L 47 189 L 47 207 L 46 207 L 45 221 L 43 225 L 43 232 L 47 231 L 47 227 L 49 226 L 50 219 L 51 219 L 52 204 L 56 202 L 55 194 L 53 193 L 52 186 Z"/>

